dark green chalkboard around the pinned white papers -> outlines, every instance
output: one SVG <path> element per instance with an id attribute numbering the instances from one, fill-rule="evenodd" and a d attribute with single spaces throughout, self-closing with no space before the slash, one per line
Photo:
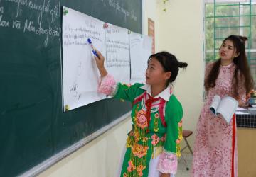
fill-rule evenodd
<path id="1" fill-rule="evenodd" d="M 0 0 L 0 176 L 17 176 L 127 113 L 106 99 L 63 113 L 62 6 L 142 33 L 138 0 Z"/>

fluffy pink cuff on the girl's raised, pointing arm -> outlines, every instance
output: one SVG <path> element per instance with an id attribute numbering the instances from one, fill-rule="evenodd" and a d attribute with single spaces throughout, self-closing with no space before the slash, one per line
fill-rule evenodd
<path id="1" fill-rule="evenodd" d="M 114 77 L 110 74 L 107 74 L 107 76 L 104 76 L 101 81 L 100 85 L 97 89 L 99 93 L 104 93 L 108 96 L 112 95 L 114 93 L 114 90 L 117 86 L 117 82 L 114 80 Z"/>

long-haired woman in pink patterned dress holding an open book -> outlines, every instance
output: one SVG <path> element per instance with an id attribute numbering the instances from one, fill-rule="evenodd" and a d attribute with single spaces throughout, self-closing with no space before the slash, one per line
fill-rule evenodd
<path id="1" fill-rule="evenodd" d="M 192 176 L 237 176 L 235 115 L 229 124 L 210 113 L 213 96 L 232 96 L 239 106 L 253 86 L 245 55 L 246 37 L 230 35 L 219 49 L 220 59 L 206 66 L 207 100 L 196 130 Z"/>

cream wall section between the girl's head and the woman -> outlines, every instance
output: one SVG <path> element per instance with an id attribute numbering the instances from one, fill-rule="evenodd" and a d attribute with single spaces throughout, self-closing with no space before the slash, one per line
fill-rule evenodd
<path id="1" fill-rule="evenodd" d="M 166 12 L 163 9 L 166 8 Z M 158 4 L 158 50 L 187 62 L 174 83 L 174 94 L 183 105 L 183 130 L 196 130 L 203 106 L 203 0 L 171 0 Z M 194 135 L 188 138 L 193 146 Z"/>

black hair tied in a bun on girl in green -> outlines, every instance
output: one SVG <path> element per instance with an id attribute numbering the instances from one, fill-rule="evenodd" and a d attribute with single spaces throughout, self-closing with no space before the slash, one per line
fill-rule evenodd
<path id="1" fill-rule="evenodd" d="M 178 68 L 186 68 L 187 63 L 178 62 L 178 59 L 169 52 L 159 52 L 149 56 L 148 63 L 151 58 L 157 59 L 160 62 L 161 66 L 164 68 L 164 72 L 171 72 L 171 77 L 168 82 L 171 83 L 175 81 L 178 75 Z"/>

